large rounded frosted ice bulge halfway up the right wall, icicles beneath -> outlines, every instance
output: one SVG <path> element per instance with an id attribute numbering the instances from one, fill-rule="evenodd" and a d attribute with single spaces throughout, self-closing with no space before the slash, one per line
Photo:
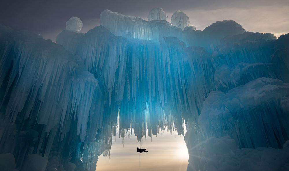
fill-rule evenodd
<path id="1" fill-rule="evenodd" d="M 245 133 L 247 136 L 240 138 L 244 147 L 278 148 L 278 143 L 269 137 L 276 136 L 284 142 L 282 131 L 289 133 L 288 124 L 278 121 L 286 113 L 275 109 L 281 108 L 280 101 L 288 99 L 288 90 L 288 83 L 262 77 L 233 88 L 227 94 L 213 91 L 204 102 L 199 125 L 208 136 L 233 135 L 236 138 Z M 258 124 L 260 121 L 264 125 Z M 268 137 L 259 130 L 267 130 Z"/>

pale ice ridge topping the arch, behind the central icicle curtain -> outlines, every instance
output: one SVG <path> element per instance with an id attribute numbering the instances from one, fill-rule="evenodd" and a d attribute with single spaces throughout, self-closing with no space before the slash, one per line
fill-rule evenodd
<path id="1" fill-rule="evenodd" d="M 188 47 L 200 46 L 208 52 L 212 52 L 220 44 L 222 38 L 245 32 L 240 24 L 232 20 L 216 22 L 205 28 L 204 31 L 196 31 L 194 26 L 187 26 L 182 31 L 182 29 L 172 26 L 165 20 L 148 22 L 142 20 L 142 18 L 125 16 L 108 9 L 101 13 L 100 25 L 116 36 L 153 40 L 156 43 L 164 43 L 164 36 L 173 36 L 184 42 Z"/>

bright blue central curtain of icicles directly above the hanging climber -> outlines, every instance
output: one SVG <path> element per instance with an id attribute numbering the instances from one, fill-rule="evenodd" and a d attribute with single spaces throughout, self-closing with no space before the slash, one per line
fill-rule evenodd
<path id="1" fill-rule="evenodd" d="M 71 45 L 77 44 L 74 53 L 84 59 L 86 70 L 106 92 L 105 110 L 109 113 L 105 115 L 113 115 L 112 122 L 116 122 L 119 112 L 120 127 L 140 130 L 139 140 L 147 128 L 151 136 L 164 126 L 173 128 L 173 123 L 183 134 L 181 113 L 200 110 L 213 89 L 207 82 L 213 78 L 208 52 L 200 47 L 187 48 L 176 37 L 165 37 L 161 46 L 154 41 L 116 37 L 103 26 L 81 38 L 74 34 L 78 33 L 63 31 L 56 41 L 68 49 L 67 40 L 75 37 L 69 40 Z M 149 111 L 149 118 L 145 111 Z"/>

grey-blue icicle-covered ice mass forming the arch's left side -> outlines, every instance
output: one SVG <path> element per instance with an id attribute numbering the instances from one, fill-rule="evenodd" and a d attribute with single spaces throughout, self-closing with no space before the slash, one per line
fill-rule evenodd
<path id="1" fill-rule="evenodd" d="M 62 148 L 70 136 L 85 142 L 88 121 L 101 115 L 94 113 L 99 109 L 90 111 L 100 107 L 101 101 L 95 100 L 102 95 L 98 81 L 81 69 L 78 56 L 40 35 L 5 26 L 0 35 L 0 153 L 13 153 L 16 168 L 37 165 L 37 160 L 25 161 L 28 152 L 39 154 L 46 166 L 51 162 L 47 157 L 55 155 L 51 154 L 55 142 L 62 142 Z M 92 124 L 93 129 L 99 129 L 98 123 Z M 96 134 L 95 130 L 91 132 Z"/>

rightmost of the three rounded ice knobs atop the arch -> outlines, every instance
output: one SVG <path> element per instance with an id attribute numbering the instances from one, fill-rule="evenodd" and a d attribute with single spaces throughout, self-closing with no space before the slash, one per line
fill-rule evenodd
<path id="1" fill-rule="evenodd" d="M 190 26 L 190 19 L 184 12 L 179 10 L 174 12 L 171 23 L 173 26 L 184 30 L 185 27 Z"/>

